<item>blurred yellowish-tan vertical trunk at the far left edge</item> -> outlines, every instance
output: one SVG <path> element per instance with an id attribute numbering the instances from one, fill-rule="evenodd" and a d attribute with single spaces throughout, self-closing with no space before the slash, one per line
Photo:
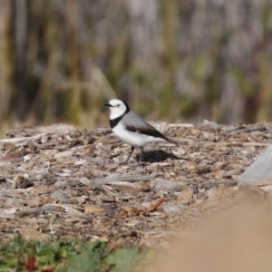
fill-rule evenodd
<path id="1" fill-rule="evenodd" d="M 10 0 L 0 1 L 0 121 L 9 114 L 13 93 L 12 86 L 12 39 Z"/>

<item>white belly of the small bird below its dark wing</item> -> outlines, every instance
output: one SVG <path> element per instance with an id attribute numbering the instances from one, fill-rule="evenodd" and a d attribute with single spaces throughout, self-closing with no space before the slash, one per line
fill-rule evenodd
<path id="1" fill-rule="evenodd" d="M 144 147 L 151 141 L 164 141 L 163 139 L 144 135 L 139 132 L 127 131 L 122 124 L 118 124 L 112 131 L 121 141 L 133 147 Z"/>

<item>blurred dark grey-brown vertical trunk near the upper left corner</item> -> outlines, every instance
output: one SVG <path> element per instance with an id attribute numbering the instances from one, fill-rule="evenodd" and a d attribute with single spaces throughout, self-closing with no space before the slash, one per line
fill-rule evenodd
<path id="1" fill-rule="evenodd" d="M 19 121 L 24 121 L 26 113 L 26 33 L 27 12 L 26 0 L 13 0 L 13 34 L 14 34 L 14 63 L 15 63 L 15 93 L 16 115 Z"/>

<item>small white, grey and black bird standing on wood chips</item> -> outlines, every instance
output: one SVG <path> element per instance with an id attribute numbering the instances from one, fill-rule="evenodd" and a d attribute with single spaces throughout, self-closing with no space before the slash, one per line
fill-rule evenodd
<path id="1" fill-rule="evenodd" d="M 105 106 L 110 109 L 110 126 L 112 132 L 125 143 L 131 145 L 131 153 L 124 164 L 126 164 L 135 148 L 141 149 L 138 160 L 141 163 L 143 148 L 152 141 L 168 141 L 179 145 L 157 131 L 147 121 L 144 121 L 137 113 L 132 112 L 129 105 L 121 99 L 112 99 Z"/>

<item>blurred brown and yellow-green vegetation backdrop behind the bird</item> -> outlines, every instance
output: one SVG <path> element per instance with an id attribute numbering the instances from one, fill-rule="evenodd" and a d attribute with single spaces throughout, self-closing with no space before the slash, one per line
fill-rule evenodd
<path id="1" fill-rule="evenodd" d="M 272 120 L 271 0 L 1 0 L 0 131 Z"/>

